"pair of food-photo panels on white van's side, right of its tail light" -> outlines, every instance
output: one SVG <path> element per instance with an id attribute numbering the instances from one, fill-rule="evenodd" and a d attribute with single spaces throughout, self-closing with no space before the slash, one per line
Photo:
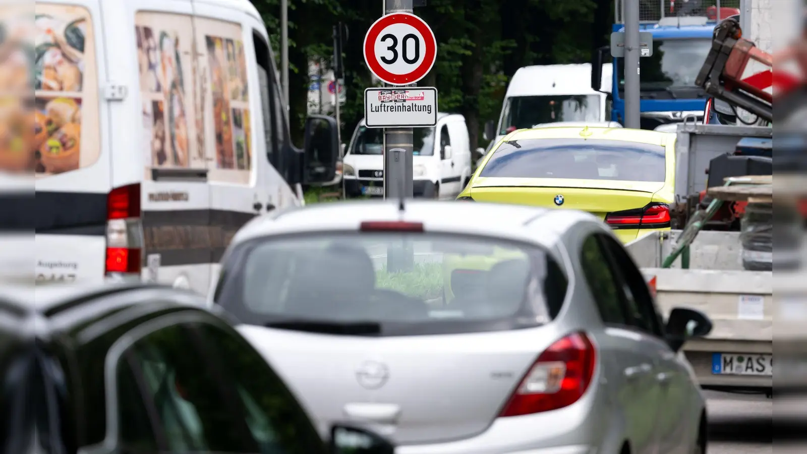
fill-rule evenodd
<path id="1" fill-rule="evenodd" d="M 230 27 L 137 13 L 147 166 L 203 168 L 213 180 L 249 181 L 249 174 L 243 174 L 251 166 L 246 57 L 236 38 L 240 28 L 230 33 Z M 215 36 L 207 33 L 211 30 Z M 198 58 L 192 57 L 195 33 L 206 51 Z M 213 120 L 209 124 L 207 116 Z"/>

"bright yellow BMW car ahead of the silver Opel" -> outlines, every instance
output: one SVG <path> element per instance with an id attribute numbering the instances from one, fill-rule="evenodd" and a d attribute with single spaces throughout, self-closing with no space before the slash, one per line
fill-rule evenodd
<path id="1" fill-rule="evenodd" d="M 479 162 L 458 200 L 591 212 L 622 242 L 669 230 L 675 134 L 628 128 L 519 129 Z"/>

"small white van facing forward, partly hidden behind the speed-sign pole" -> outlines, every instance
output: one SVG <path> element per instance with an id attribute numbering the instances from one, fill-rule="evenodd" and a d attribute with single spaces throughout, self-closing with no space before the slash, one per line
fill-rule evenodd
<path id="1" fill-rule="evenodd" d="M 437 113 L 433 128 L 412 128 L 413 191 L 416 197 L 454 198 L 470 179 L 470 138 L 465 117 Z M 383 196 L 384 130 L 362 120 L 342 162 L 345 198 Z"/>

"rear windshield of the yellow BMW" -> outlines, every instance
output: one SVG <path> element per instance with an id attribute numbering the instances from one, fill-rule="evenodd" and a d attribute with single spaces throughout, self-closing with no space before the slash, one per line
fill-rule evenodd
<path id="1" fill-rule="evenodd" d="M 663 182 L 665 149 L 632 141 L 526 139 L 495 149 L 481 177 Z"/>

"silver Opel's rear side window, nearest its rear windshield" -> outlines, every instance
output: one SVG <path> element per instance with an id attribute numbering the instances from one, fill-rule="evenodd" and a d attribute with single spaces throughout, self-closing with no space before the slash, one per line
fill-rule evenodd
<path id="1" fill-rule="evenodd" d="M 595 235 L 583 242 L 580 267 L 583 268 L 583 275 L 603 322 L 606 325 L 626 325 L 621 295 L 616 284 L 617 275 L 614 275 Z"/>

